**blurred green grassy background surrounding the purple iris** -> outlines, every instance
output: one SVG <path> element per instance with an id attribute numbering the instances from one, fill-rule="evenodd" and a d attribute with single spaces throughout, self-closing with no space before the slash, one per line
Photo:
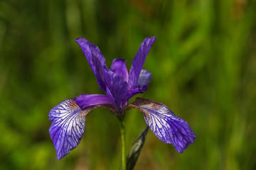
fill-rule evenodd
<path id="1" fill-rule="evenodd" d="M 119 169 L 118 120 L 92 111 L 80 145 L 60 161 L 48 112 L 65 98 L 103 94 L 75 38 L 127 68 L 156 36 L 145 94 L 197 138 L 179 154 L 149 131 L 135 169 L 256 169 L 256 1 L 0 1 L 0 169 Z M 133 101 L 132 98 L 131 101 Z M 146 123 L 126 113 L 127 148 Z"/>

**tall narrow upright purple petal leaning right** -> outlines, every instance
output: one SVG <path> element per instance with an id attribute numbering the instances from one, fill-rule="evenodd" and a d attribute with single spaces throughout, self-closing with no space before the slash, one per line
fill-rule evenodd
<path id="1" fill-rule="evenodd" d="M 132 67 L 129 71 L 129 89 L 134 89 L 134 87 L 136 86 L 139 74 L 146 60 L 146 56 L 148 55 L 149 50 L 155 40 L 156 38 L 154 36 L 151 38 L 145 38 L 140 45 L 137 54 L 132 60 Z"/>

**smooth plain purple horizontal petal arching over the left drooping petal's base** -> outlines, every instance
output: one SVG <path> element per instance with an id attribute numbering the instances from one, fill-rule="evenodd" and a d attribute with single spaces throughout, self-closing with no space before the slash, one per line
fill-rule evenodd
<path id="1" fill-rule="evenodd" d="M 84 109 L 87 106 L 95 106 L 99 104 L 112 104 L 114 105 L 114 101 L 110 96 L 102 95 L 102 94 L 81 94 L 78 97 L 74 98 L 75 103 Z"/>

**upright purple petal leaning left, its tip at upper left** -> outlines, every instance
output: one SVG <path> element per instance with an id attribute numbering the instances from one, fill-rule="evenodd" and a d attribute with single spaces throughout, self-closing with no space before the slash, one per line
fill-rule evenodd
<path id="1" fill-rule="evenodd" d="M 82 52 L 85 54 L 87 61 L 92 68 L 92 72 L 94 72 L 95 77 L 97 79 L 97 84 L 99 84 L 100 89 L 102 91 L 106 91 L 106 84 L 104 79 L 103 66 L 105 66 L 105 58 L 100 53 L 99 47 L 87 41 L 85 38 L 77 38 L 75 39 L 80 45 Z"/>

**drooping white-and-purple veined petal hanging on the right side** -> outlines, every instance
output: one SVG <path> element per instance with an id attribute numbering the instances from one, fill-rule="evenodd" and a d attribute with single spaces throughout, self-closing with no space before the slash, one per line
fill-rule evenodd
<path id="1" fill-rule="evenodd" d="M 137 108 L 142 111 L 146 124 L 165 143 L 174 145 L 177 152 L 182 153 L 188 145 L 193 144 L 196 135 L 188 123 L 178 118 L 162 103 L 136 98 L 127 108 Z"/>

